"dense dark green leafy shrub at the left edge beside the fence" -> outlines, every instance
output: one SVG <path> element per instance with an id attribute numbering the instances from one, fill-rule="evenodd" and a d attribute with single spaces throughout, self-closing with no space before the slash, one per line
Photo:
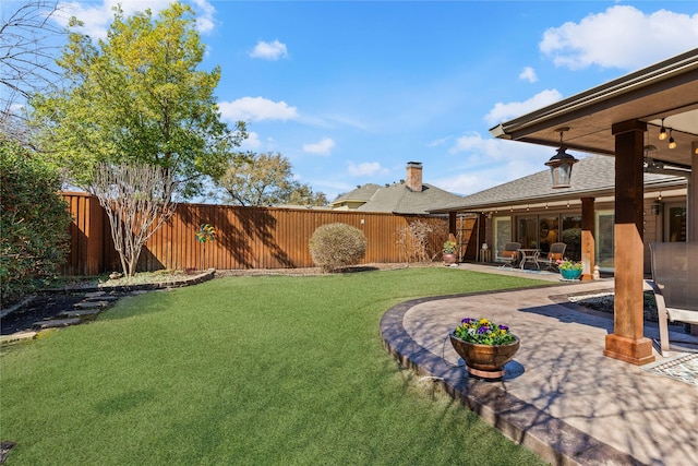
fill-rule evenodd
<path id="1" fill-rule="evenodd" d="M 65 202 L 58 172 L 0 138 L 0 298 L 12 301 L 52 278 L 65 261 Z"/>

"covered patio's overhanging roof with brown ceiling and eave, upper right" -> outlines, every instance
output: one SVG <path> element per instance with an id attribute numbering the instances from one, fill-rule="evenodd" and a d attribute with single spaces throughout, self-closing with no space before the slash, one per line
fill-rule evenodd
<path id="1" fill-rule="evenodd" d="M 661 119 L 677 143 L 660 141 Z M 501 123 L 490 130 L 495 138 L 614 155 L 614 123 L 640 120 L 648 124 L 647 144 L 655 160 L 690 167 L 698 146 L 698 48 L 652 67 L 602 84 L 573 97 Z"/>

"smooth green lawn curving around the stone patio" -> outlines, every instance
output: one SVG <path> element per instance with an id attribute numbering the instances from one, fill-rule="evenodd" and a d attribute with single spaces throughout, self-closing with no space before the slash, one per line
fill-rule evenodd
<path id="1" fill-rule="evenodd" d="M 382 346 L 407 299 L 540 284 L 447 267 L 227 277 L 0 358 L 8 465 L 535 465 Z"/>

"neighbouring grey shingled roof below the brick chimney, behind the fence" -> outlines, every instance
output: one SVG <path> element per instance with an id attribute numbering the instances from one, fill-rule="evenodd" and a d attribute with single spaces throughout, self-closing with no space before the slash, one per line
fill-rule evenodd
<path id="1" fill-rule="evenodd" d="M 358 211 L 425 215 L 433 208 L 458 201 L 462 198 L 432 184 L 423 183 L 422 191 L 412 191 L 400 182 L 376 190 Z"/>

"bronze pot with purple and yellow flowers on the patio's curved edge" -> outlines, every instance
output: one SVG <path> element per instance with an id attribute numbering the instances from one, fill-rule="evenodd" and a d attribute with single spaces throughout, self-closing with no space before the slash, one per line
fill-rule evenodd
<path id="1" fill-rule="evenodd" d="M 466 318 L 450 334 L 450 344 L 466 363 L 466 371 L 484 380 L 500 380 L 504 366 L 519 349 L 519 337 L 506 325 L 488 319 Z"/>

